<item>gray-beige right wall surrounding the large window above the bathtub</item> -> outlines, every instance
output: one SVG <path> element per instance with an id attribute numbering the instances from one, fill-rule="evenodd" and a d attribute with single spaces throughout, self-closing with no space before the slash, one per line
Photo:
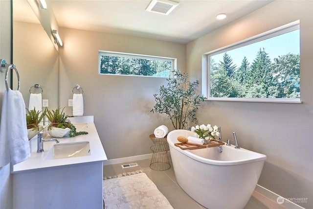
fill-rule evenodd
<path id="1" fill-rule="evenodd" d="M 286 23 L 300 20 L 302 104 L 205 101 L 200 123 L 222 126 L 223 137 L 267 155 L 259 185 L 313 208 L 313 1 L 274 1 L 187 44 L 186 69 L 201 80 L 201 56 Z M 231 174 L 229 174 L 231 175 Z"/>

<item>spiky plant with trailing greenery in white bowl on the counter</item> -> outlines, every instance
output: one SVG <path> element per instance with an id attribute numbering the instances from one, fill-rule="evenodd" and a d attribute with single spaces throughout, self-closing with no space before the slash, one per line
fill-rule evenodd
<path id="1" fill-rule="evenodd" d="M 47 118 L 51 122 L 48 126 L 50 130 L 49 135 L 51 137 L 62 138 L 62 137 L 75 137 L 82 134 L 88 134 L 86 131 L 76 132 L 76 127 L 67 120 L 67 115 L 63 113 L 65 107 L 62 109 L 57 108 L 55 111 L 47 110 Z"/>

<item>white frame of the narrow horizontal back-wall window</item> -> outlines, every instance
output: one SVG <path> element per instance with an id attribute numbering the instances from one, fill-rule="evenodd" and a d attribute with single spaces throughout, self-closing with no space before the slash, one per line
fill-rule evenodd
<path id="1" fill-rule="evenodd" d="M 116 56 L 116 57 L 128 57 L 128 58 L 137 58 L 137 59 L 150 59 L 150 60 L 159 60 L 159 61 L 171 61 L 172 62 L 172 72 L 171 78 L 174 78 L 174 70 L 176 71 L 177 66 L 177 58 L 172 57 L 161 57 L 161 56 L 153 56 L 153 55 L 144 55 L 144 54 L 134 54 L 134 53 L 125 53 L 125 52 L 116 52 L 116 51 L 105 51 L 99 50 L 98 52 L 98 74 L 99 75 L 121 75 L 121 76 L 140 76 L 140 77 L 152 77 L 152 78 L 168 78 L 161 76 L 151 76 L 151 75 L 127 75 L 127 74 L 110 74 L 110 73 L 101 73 L 101 59 L 100 56 Z"/>

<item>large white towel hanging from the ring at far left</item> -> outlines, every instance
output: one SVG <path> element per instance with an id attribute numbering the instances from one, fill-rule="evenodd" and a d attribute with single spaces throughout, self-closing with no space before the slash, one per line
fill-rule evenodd
<path id="1" fill-rule="evenodd" d="M 0 167 L 25 161 L 30 156 L 26 111 L 22 93 L 4 92 L 0 124 Z"/>

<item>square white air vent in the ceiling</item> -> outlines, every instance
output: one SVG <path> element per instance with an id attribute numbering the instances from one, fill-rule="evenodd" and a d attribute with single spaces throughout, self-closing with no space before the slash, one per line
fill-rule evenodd
<path id="1" fill-rule="evenodd" d="M 179 2 L 171 0 L 152 0 L 147 11 L 168 15 L 179 4 Z"/>

